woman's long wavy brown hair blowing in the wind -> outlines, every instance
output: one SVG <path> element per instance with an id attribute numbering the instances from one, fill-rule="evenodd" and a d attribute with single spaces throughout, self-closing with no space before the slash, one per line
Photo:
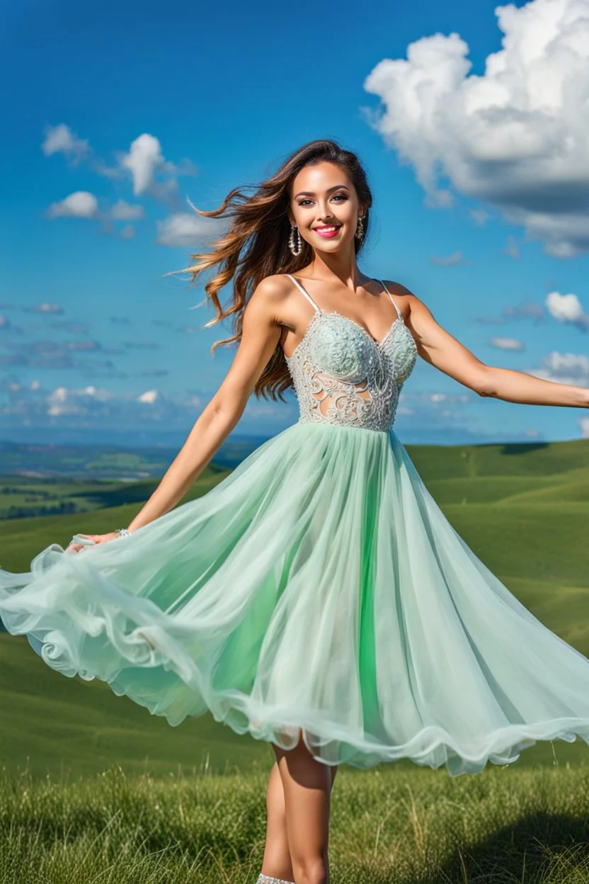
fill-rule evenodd
<path id="1" fill-rule="evenodd" d="M 223 200 L 223 204 L 210 211 L 193 209 L 205 217 L 230 217 L 227 232 L 212 242 L 209 252 L 195 252 L 190 255 L 195 262 L 190 267 L 172 273 L 191 273 L 190 286 L 202 271 L 218 265 L 213 278 L 205 285 L 207 298 L 215 305 L 216 316 L 205 324 L 205 328 L 221 322 L 226 316 L 232 317 L 233 335 L 215 341 L 215 347 L 232 344 L 241 338 L 243 313 L 248 299 L 262 279 L 275 273 L 292 273 L 305 267 L 311 260 L 312 248 L 301 237 L 300 255 L 292 255 L 289 248 L 291 223 L 289 207 L 291 184 L 298 172 L 308 165 L 333 163 L 347 174 L 356 188 L 360 204 L 365 207 L 364 235 L 361 240 L 354 238 L 356 255 L 366 241 L 373 202 L 372 192 L 366 181 L 366 171 L 358 156 L 350 150 L 342 149 L 335 141 L 318 139 L 309 141 L 295 150 L 270 178 L 258 185 L 234 187 Z M 253 187 L 251 196 L 243 191 Z M 169 274 L 165 274 L 166 276 Z M 233 279 L 233 298 L 222 307 L 218 293 Z M 292 385 L 291 375 L 284 360 L 283 348 L 276 345 L 266 368 L 258 379 L 253 392 L 256 396 L 273 400 L 284 400 L 283 392 Z"/>

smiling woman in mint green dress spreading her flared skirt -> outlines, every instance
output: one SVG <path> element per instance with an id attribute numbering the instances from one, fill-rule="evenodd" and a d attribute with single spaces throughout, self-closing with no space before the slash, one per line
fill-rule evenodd
<path id="1" fill-rule="evenodd" d="M 485 365 L 416 295 L 361 272 L 371 204 L 358 158 L 313 141 L 201 212 L 231 217 L 187 269 L 220 265 L 214 322 L 233 316 L 223 343 L 239 342 L 223 384 L 127 529 L 0 572 L 6 627 L 50 666 L 171 725 L 210 710 L 272 743 L 260 882 L 328 880 L 343 762 L 457 775 L 538 739 L 589 742 L 589 660 L 464 544 L 391 430 L 417 354 L 480 396 L 587 408 L 589 391 Z M 251 393 L 291 385 L 298 423 L 174 508 Z"/>

